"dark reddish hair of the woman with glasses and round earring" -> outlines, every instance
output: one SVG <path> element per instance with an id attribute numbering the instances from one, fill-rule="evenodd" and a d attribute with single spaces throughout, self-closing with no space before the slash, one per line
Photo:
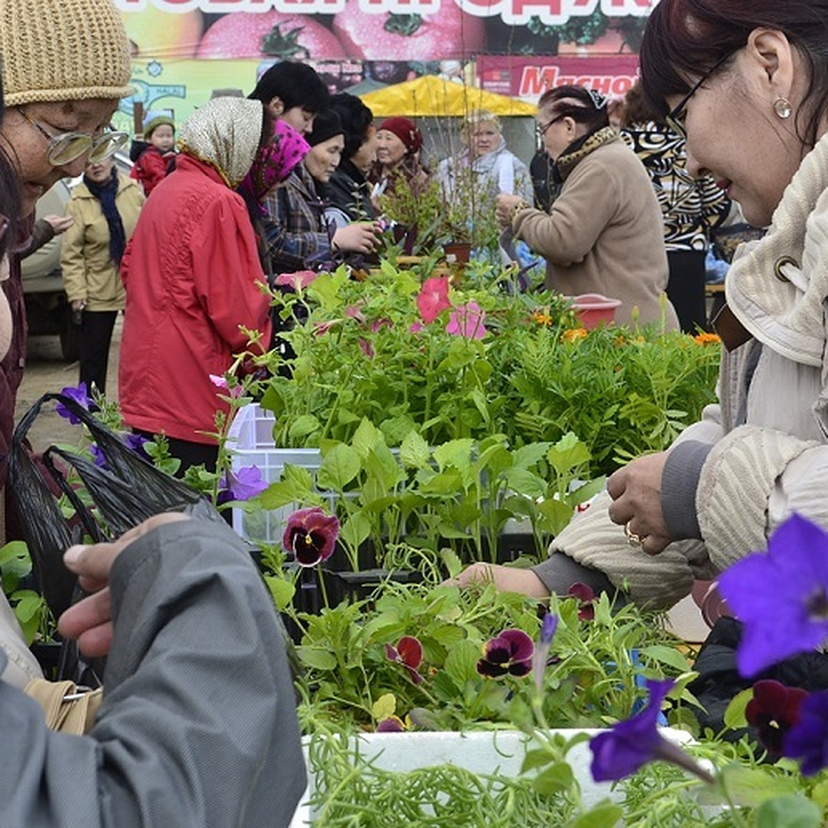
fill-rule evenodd
<path id="1" fill-rule="evenodd" d="M 725 68 L 759 27 L 781 31 L 805 62 L 807 89 L 796 123 L 803 144 L 812 147 L 828 111 L 828 0 L 662 0 L 641 45 L 647 102 L 667 113 L 669 95 L 687 94 L 692 79 Z"/>

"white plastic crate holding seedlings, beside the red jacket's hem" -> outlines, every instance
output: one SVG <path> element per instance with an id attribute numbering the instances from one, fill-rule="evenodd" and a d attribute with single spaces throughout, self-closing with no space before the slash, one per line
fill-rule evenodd
<path id="1" fill-rule="evenodd" d="M 253 402 L 240 408 L 229 431 L 229 448 L 233 450 L 233 470 L 243 466 L 256 466 L 267 483 L 274 483 L 282 476 L 286 464 L 301 466 L 315 472 L 321 463 L 318 449 L 277 449 L 273 442 L 275 417 Z M 325 496 L 325 493 L 322 493 Z M 333 513 L 334 495 L 328 496 L 328 511 Z M 279 543 L 285 531 L 287 518 L 299 507 L 288 503 L 282 508 L 264 511 L 257 509 L 248 514 L 233 509 L 233 529 L 249 541 Z"/>

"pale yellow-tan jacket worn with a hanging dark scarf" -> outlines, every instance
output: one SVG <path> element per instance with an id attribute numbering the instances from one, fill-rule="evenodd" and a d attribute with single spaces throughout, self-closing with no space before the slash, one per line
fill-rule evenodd
<path id="1" fill-rule="evenodd" d="M 118 175 L 115 204 L 127 240 L 135 229 L 144 200 L 137 181 Z M 80 183 L 72 190 L 66 214 L 75 219 L 75 224 L 64 233 L 60 247 L 67 298 L 70 302 L 85 301 L 87 310 L 123 310 L 127 293 L 118 266 L 109 256 L 109 228 L 100 201 Z"/>

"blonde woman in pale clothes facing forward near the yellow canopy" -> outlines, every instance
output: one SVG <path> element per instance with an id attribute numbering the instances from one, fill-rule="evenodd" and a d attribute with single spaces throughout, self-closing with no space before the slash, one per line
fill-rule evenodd
<path id="1" fill-rule="evenodd" d="M 532 200 L 532 176 L 526 164 L 506 147 L 497 115 L 487 109 L 472 109 L 460 128 L 460 140 L 460 154 L 437 166 L 437 180 L 447 196 L 461 181 L 470 181 L 480 192 Z"/>

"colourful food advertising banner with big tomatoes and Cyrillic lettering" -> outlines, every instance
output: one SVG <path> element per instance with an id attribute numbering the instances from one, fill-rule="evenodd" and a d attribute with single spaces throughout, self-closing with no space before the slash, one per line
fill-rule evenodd
<path id="1" fill-rule="evenodd" d="M 248 94 L 278 60 L 306 61 L 332 91 L 357 94 L 437 75 L 482 81 L 485 89 L 534 103 L 543 84 L 575 72 L 595 84 L 609 77 L 610 94 L 617 94 L 634 75 L 657 0 L 113 2 L 127 27 L 136 89 L 115 121 L 132 129 L 137 103 L 145 112 L 166 109 L 181 123 L 214 94 Z M 565 56 L 587 63 L 600 57 L 604 68 L 561 63 Z M 615 68 L 604 64 L 609 56 Z"/>

